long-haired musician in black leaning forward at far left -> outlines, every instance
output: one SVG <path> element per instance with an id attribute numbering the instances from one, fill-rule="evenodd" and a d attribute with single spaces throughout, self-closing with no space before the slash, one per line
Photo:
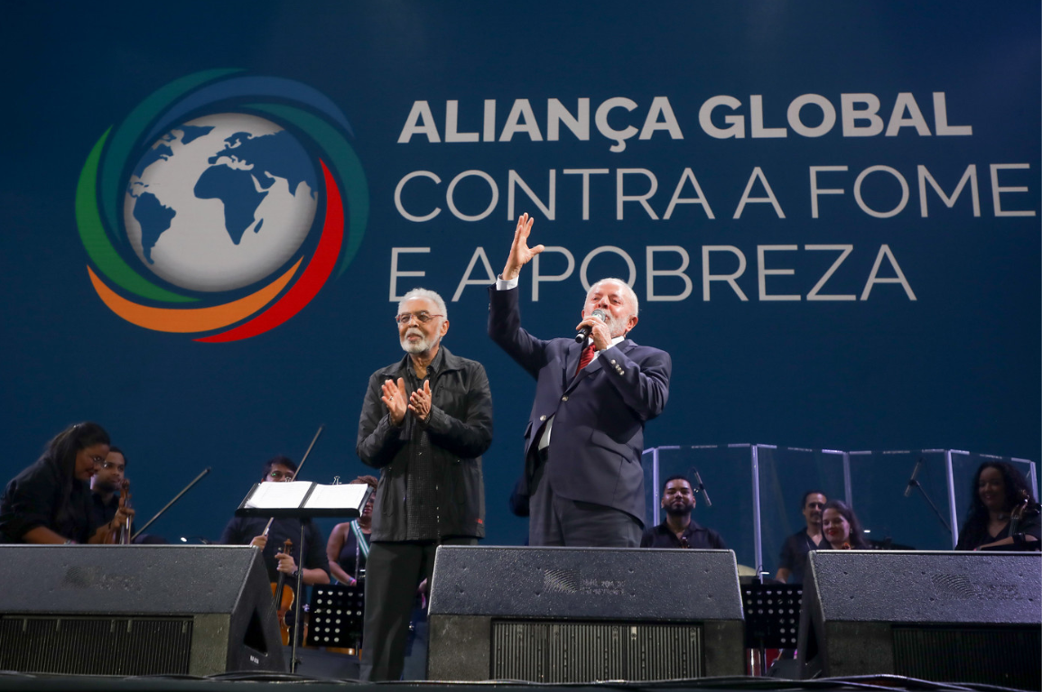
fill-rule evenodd
<path id="1" fill-rule="evenodd" d="M 108 455 L 108 433 L 96 422 L 65 429 L 43 456 L 16 476 L 0 498 L 0 541 L 5 543 L 111 543 L 116 528 L 133 516 L 129 493 L 113 518 L 94 515 L 91 477 Z"/>

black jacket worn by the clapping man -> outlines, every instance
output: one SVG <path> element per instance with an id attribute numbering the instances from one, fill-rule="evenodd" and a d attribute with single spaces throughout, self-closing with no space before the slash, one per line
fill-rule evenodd
<path id="1" fill-rule="evenodd" d="M 358 420 L 355 452 L 362 462 L 380 469 L 373 504 L 374 541 L 405 540 L 412 428 L 419 424 L 405 414 L 401 427 L 391 422 L 380 401 L 388 379 L 408 381 L 410 361 L 376 370 Z M 492 444 L 492 393 L 485 367 L 475 360 L 453 356 L 444 345 L 431 363 L 431 408 L 427 420 L 433 463 L 443 482 L 438 484 L 439 535 L 485 536 L 485 483 L 481 455 Z"/>

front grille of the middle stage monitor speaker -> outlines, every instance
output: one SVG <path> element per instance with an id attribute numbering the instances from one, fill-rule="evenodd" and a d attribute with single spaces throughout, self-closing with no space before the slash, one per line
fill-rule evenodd
<path id="1" fill-rule="evenodd" d="M 702 626 L 691 623 L 493 620 L 493 680 L 531 683 L 703 676 Z"/>

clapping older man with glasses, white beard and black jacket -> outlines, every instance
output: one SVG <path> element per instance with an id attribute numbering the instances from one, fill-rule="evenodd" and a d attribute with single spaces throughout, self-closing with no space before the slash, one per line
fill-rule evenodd
<path id="1" fill-rule="evenodd" d="M 485 367 L 442 345 L 445 301 L 414 288 L 398 304 L 405 356 L 376 370 L 358 421 L 358 458 L 380 469 L 366 568 L 362 678 L 401 677 L 413 595 L 439 545 L 485 536 L 481 455 L 492 443 Z"/>

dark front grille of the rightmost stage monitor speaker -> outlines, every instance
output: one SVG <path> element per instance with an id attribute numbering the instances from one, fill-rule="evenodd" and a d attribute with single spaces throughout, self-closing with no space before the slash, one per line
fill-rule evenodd
<path id="1" fill-rule="evenodd" d="M 898 675 L 1042 689 L 1042 629 L 895 626 L 893 637 Z"/>

